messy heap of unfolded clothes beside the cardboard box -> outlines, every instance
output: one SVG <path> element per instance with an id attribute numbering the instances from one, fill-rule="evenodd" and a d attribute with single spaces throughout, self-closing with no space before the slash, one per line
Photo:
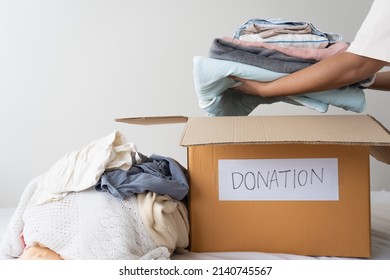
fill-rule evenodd
<path id="1" fill-rule="evenodd" d="M 187 172 L 115 131 L 24 190 L 0 254 L 21 259 L 169 259 L 189 243 Z"/>

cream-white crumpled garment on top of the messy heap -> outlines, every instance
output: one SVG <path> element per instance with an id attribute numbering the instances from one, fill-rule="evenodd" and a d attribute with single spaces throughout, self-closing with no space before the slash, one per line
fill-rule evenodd
<path id="1" fill-rule="evenodd" d="M 136 146 L 115 131 L 60 158 L 38 182 L 33 200 L 42 204 L 90 188 L 106 169 L 128 170 L 132 158 L 141 160 Z"/>

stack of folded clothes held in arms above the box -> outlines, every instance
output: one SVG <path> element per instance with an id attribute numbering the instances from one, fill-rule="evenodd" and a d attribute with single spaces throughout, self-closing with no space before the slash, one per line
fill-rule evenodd
<path id="1" fill-rule="evenodd" d="M 345 51 L 342 36 L 318 30 L 312 23 L 283 19 L 251 19 L 233 37 L 216 38 L 209 57 L 195 56 L 193 76 L 199 106 L 209 116 L 246 116 L 260 104 L 286 102 L 326 112 L 329 105 L 362 112 L 363 89 L 373 78 L 334 90 L 310 94 L 260 97 L 237 92 L 230 75 L 273 81 Z"/>

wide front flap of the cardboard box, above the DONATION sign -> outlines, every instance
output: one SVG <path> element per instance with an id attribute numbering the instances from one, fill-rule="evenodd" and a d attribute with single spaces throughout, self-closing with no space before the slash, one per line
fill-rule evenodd
<path id="1" fill-rule="evenodd" d="M 181 145 L 345 144 L 370 146 L 390 163 L 390 134 L 367 115 L 247 116 L 190 118 Z"/>

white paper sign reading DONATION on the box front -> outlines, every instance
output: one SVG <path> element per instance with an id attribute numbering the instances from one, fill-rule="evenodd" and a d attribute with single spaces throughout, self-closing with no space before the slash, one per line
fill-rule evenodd
<path id="1" fill-rule="evenodd" d="M 338 200 L 337 158 L 218 161 L 219 200 Z"/>

